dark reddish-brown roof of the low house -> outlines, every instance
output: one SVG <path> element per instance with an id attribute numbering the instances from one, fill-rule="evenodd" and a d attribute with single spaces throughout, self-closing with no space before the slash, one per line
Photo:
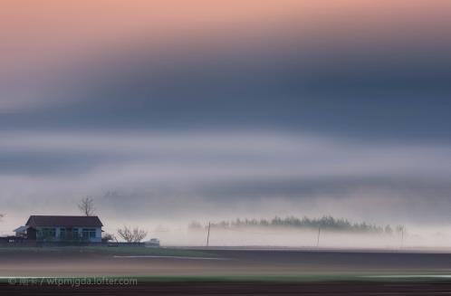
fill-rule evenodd
<path id="1" fill-rule="evenodd" d="M 27 226 L 51 227 L 101 227 L 101 219 L 96 215 L 31 215 L 26 222 Z"/>

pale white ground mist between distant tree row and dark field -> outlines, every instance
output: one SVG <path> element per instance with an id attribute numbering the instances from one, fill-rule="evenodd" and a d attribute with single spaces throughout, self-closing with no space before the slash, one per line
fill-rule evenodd
<path id="1" fill-rule="evenodd" d="M 192 227 L 191 224 L 158 224 L 156 221 L 153 225 L 139 224 L 139 227 L 148 230 L 146 240 L 158 238 L 162 246 L 206 247 L 207 238 L 209 247 L 438 250 L 451 246 L 451 229 L 444 226 L 403 225 L 402 233 L 393 231 L 391 234 L 346 232 L 327 227 L 211 226 L 208 236 L 207 223 L 198 227 Z M 111 233 L 115 234 L 115 230 L 112 229 Z"/>

